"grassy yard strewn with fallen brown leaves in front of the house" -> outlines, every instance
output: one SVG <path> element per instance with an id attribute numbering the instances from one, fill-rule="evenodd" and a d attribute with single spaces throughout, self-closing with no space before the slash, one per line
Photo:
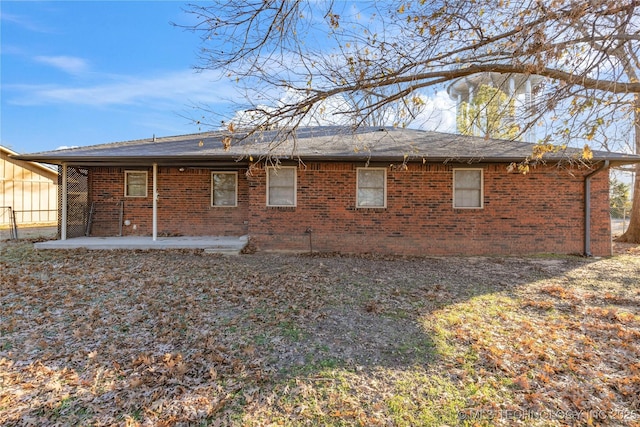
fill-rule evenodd
<path id="1" fill-rule="evenodd" d="M 640 257 L 0 249 L 2 425 L 640 425 Z"/>

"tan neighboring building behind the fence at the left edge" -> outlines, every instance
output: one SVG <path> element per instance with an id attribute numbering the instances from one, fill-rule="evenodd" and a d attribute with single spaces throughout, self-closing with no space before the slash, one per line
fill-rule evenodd
<path id="1" fill-rule="evenodd" d="M 58 173 L 10 157 L 17 154 L 0 145 L 0 226 L 11 223 L 11 211 L 18 226 L 57 223 Z"/>

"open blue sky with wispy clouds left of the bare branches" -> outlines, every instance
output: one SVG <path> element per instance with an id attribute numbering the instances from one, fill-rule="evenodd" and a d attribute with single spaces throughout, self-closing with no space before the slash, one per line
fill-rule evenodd
<path id="1" fill-rule="evenodd" d="M 0 144 L 19 153 L 200 129 L 193 105 L 232 111 L 232 86 L 197 73 L 178 1 L 2 1 Z"/>

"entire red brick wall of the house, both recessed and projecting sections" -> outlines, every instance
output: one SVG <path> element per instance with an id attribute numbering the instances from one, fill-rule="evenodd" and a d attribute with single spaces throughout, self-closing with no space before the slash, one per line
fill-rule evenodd
<path id="1" fill-rule="evenodd" d="M 387 168 L 387 207 L 356 208 L 356 164 L 307 163 L 298 169 L 297 206 L 266 206 L 265 171 L 238 173 L 238 207 L 211 207 L 211 171 L 159 168 L 160 235 L 249 234 L 260 250 L 378 252 L 407 255 L 583 253 L 584 175 L 546 167 L 527 175 L 506 165 L 481 165 L 484 208 L 453 208 L 452 165 Z M 375 166 L 375 165 L 371 165 Z M 389 165 L 381 165 L 389 166 Z M 458 166 L 455 166 L 458 167 Z M 124 170 L 93 169 L 96 202 L 92 234 L 118 234 L 124 200 L 125 235 L 152 233 L 152 176 L 148 197 L 124 197 Z M 127 170 L 133 170 L 128 168 Z M 592 180 L 594 255 L 611 254 L 608 175 Z M 133 229 L 133 225 L 136 229 Z"/>

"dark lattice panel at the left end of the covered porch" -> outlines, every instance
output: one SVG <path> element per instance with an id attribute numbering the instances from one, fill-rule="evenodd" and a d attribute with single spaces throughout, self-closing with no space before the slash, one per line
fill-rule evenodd
<path id="1" fill-rule="evenodd" d="M 85 235 L 89 217 L 89 169 L 67 167 L 67 237 Z M 58 236 L 62 235 L 62 166 L 58 167 Z"/>

